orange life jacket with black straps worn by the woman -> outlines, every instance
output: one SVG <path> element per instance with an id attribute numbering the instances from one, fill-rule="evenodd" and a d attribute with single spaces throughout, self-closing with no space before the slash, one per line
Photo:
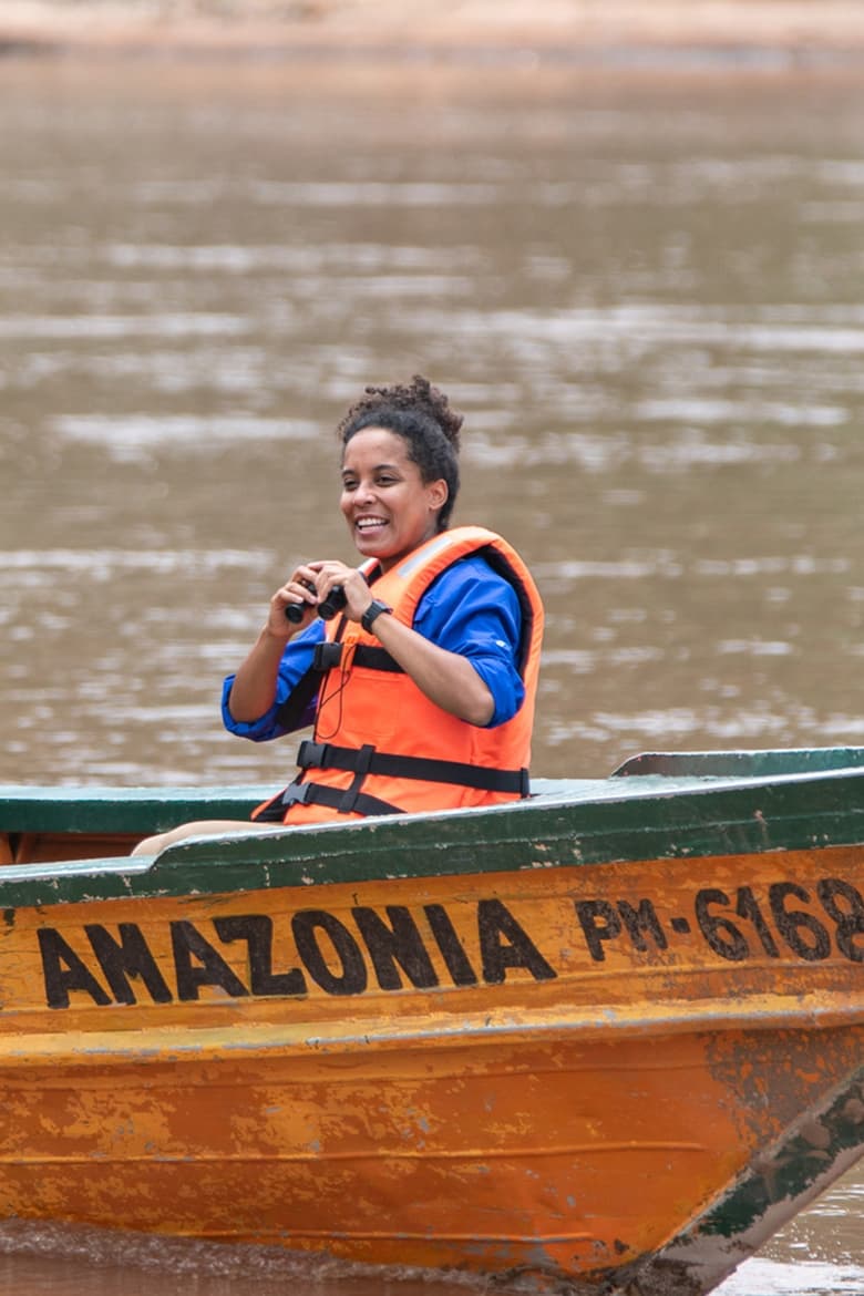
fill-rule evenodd
<path id="1" fill-rule="evenodd" d="M 253 818 L 313 823 L 491 805 L 529 794 L 543 604 L 516 550 L 494 531 L 460 526 L 426 540 L 390 572 L 381 574 L 374 560 L 361 570 L 376 597 L 412 626 L 431 582 L 470 553 L 486 559 L 519 599 L 525 700 L 516 715 L 494 728 L 451 715 L 421 692 L 373 634 L 345 617 L 334 618 L 316 651 L 324 674 L 319 677 L 315 736 L 298 752 L 301 774 Z"/>

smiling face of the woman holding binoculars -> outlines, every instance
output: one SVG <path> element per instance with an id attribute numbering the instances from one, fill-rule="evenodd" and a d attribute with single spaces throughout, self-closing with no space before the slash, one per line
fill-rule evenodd
<path id="1" fill-rule="evenodd" d="M 341 508 L 351 539 L 385 572 L 438 531 L 447 482 L 424 482 L 402 437 L 364 428 L 345 447 Z"/>

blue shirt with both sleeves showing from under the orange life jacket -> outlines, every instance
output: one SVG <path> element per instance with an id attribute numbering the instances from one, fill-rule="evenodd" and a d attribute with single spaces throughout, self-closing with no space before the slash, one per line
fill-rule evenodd
<path id="1" fill-rule="evenodd" d="M 470 555 L 442 572 L 420 600 L 413 629 L 439 648 L 468 657 L 495 702 L 487 728 L 516 715 L 525 699 L 518 671 L 522 614 L 513 586 L 484 559 Z M 289 732 L 279 723 L 277 712 L 312 665 L 315 645 L 324 636 L 324 622 L 316 619 L 288 642 L 279 667 L 276 700 L 256 721 L 236 721 L 231 714 L 228 697 L 234 675 L 228 675 L 222 692 L 225 728 L 253 743 L 267 743 Z M 312 699 L 295 728 L 313 722 L 316 702 Z"/>

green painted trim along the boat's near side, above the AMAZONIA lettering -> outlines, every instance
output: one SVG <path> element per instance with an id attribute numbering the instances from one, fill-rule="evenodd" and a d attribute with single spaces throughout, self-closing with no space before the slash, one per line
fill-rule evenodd
<path id="1" fill-rule="evenodd" d="M 0 907 L 864 844 L 864 769 L 570 787 L 571 796 L 481 810 L 190 839 L 155 859 L 5 867 Z M 227 802 L 218 805 L 222 816 Z M 105 811 L 115 822 L 118 807 Z"/>

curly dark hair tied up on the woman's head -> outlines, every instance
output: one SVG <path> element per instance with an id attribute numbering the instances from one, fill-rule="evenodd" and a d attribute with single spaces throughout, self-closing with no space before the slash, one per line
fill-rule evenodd
<path id="1" fill-rule="evenodd" d="M 408 384 L 365 389 L 337 428 L 342 448 L 363 428 L 386 428 L 405 442 L 408 457 L 417 464 L 426 482 L 443 477 L 447 500 L 438 513 L 438 530 L 443 531 L 453 512 L 459 494 L 459 430 L 464 416 L 451 410 L 443 391 L 429 378 L 415 375 Z"/>

